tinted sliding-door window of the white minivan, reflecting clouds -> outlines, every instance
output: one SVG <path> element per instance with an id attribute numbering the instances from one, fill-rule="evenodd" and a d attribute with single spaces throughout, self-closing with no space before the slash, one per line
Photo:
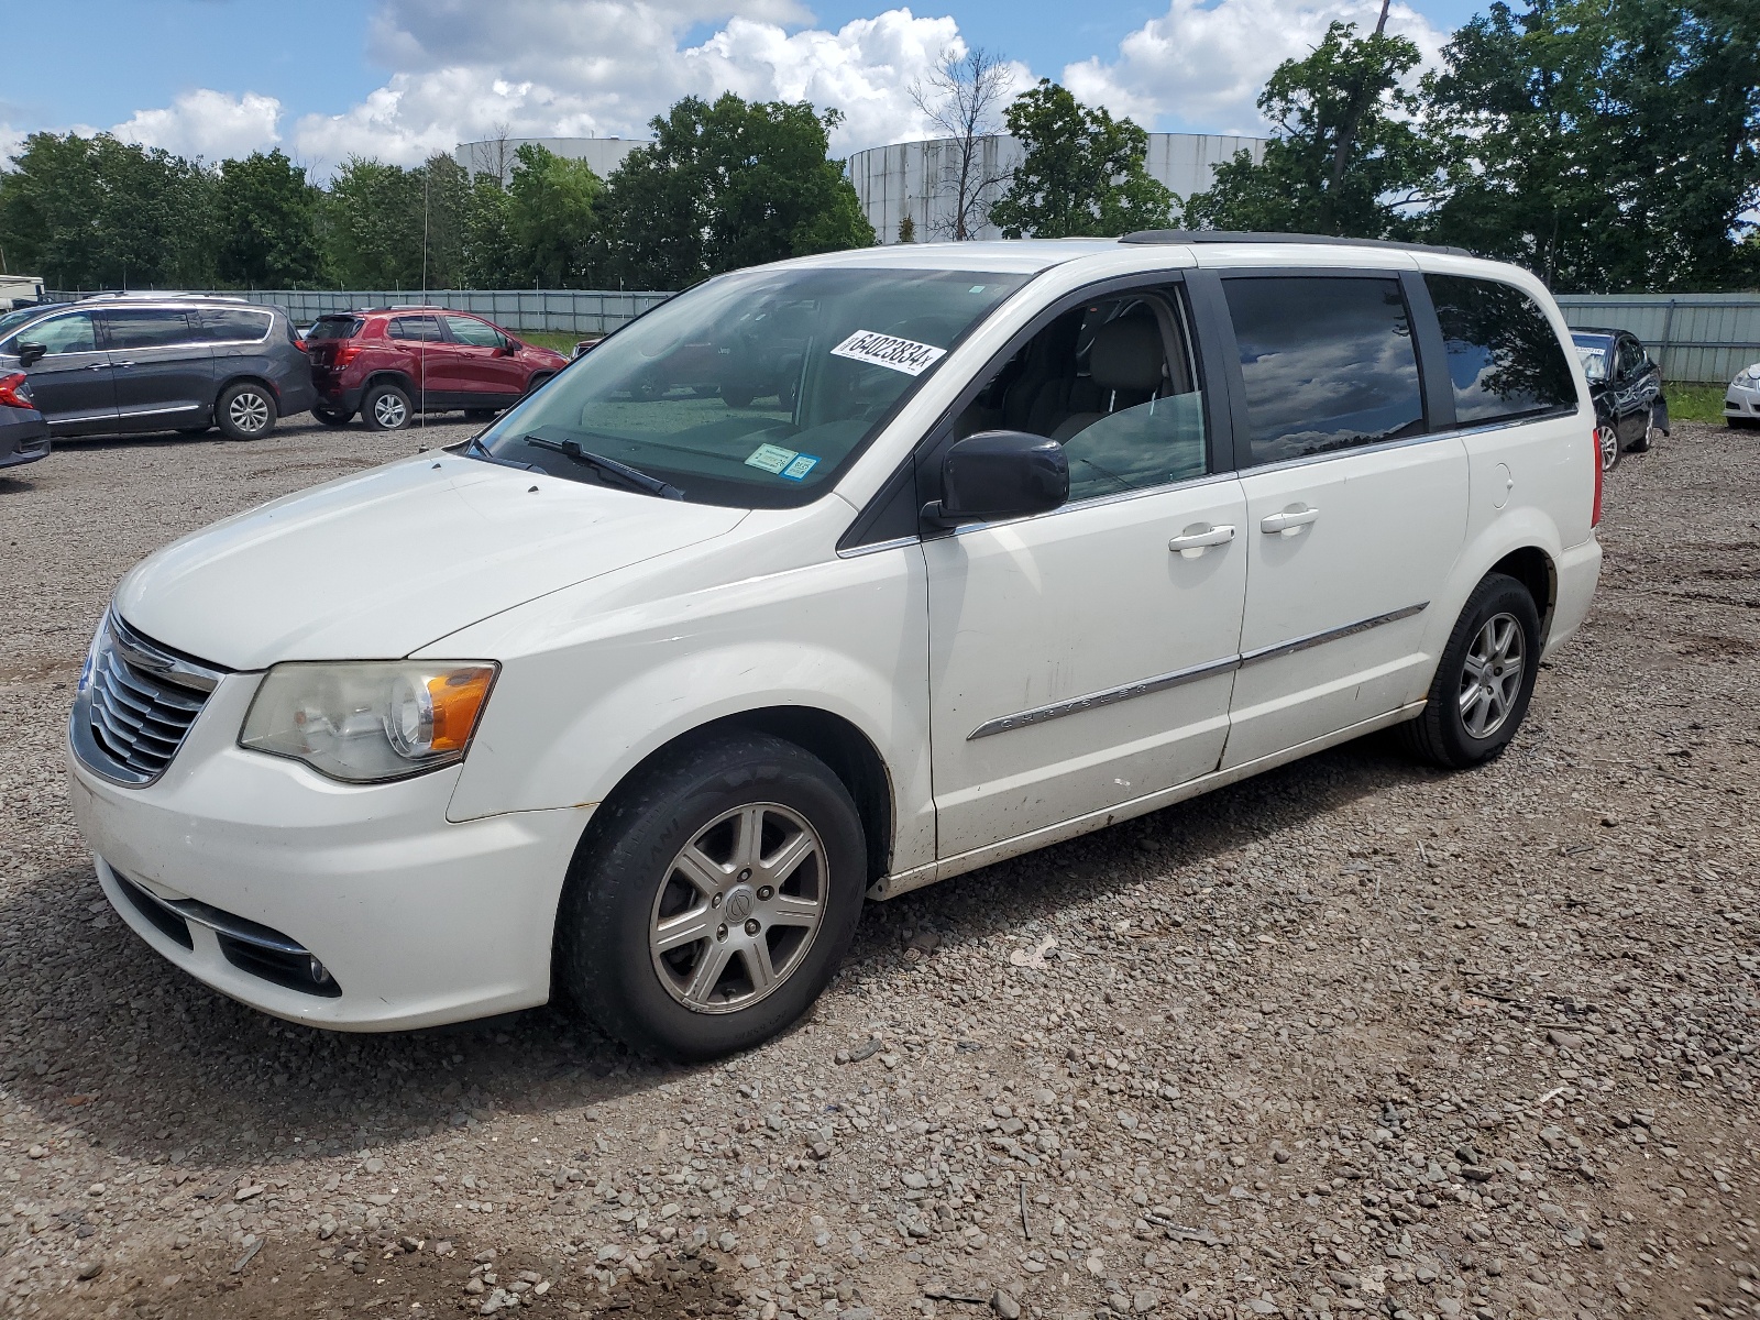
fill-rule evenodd
<path id="1" fill-rule="evenodd" d="M 1223 280 L 1246 380 L 1250 465 L 1424 431 L 1412 319 L 1399 280 Z"/>

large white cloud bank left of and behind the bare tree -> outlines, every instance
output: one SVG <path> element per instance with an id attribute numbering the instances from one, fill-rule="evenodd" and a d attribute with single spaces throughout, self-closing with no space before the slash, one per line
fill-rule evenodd
<path id="1" fill-rule="evenodd" d="M 908 88 L 943 49 L 963 49 L 957 23 L 908 9 L 836 32 L 806 19 L 796 0 L 739 0 L 737 12 L 729 0 L 389 0 L 371 46 L 398 72 L 341 114 L 303 116 L 292 141 L 334 169 L 350 155 L 415 164 L 503 125 L 514 137 L 644 139 L 679 97 L 727 90 L 838 107 L 838 153 L 919 136 Z M 686 44 L 706 25 L 715 32 Z"/>

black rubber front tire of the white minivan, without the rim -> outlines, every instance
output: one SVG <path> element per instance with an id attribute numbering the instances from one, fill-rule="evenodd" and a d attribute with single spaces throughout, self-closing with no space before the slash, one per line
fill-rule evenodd
<path id="1" fill-rule="evenodd" d="M 746 803 L 780 803 L 818 831 L 827 912 L 803 963 L 750 1008 L 697 1014 L 660 984 L 648 945 L 655 889 L 704 825 Z M 558 977 L 570 998 L 634 1049 L 713 1060 L 794 1023 L 829 984 L 855 935 L 868 887 L 861 817 L 843 783 L 808 752 L 762 734 L 697 746 L 602 808 L 597 838 L 570 868 L 558 913 Z"/>

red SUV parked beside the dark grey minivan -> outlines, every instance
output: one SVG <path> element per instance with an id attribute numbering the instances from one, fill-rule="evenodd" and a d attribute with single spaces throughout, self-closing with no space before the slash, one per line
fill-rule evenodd
<path id="1" fill-rule="evenodd" d="M 373 431 L 408 426 L 417 412 L 491 417 L 568 364 L 480 317 L 440 308 L 319 317 L 306 352 L 319 387 L 312 415 L 341 426 L 359 412 Z"/>

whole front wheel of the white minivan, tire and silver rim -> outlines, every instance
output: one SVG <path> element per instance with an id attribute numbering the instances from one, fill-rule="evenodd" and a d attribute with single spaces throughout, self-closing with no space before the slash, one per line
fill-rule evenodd
<path id="1" fill-rule="evenodd" d="M 861 817 L 822 760 L 730 732 L 593 818 L 556 919 L 558 986 L 632 1049 L 713 1060 L 781 1031 L 848 952 Z"/>

